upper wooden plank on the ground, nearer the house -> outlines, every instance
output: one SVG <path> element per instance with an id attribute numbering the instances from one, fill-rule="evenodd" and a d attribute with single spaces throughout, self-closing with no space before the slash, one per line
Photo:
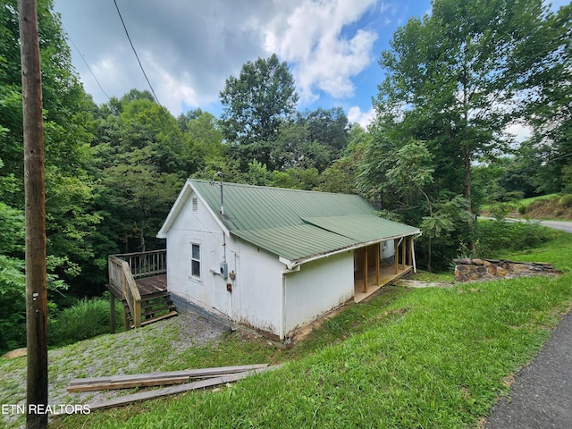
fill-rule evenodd
<path id="1" fill-rule="evenodd" d="M 242 373 L 245 371 L 263 369 L 267 366 L 268 364 L 220 366 L 213 368 L 186 369 L 182 371 L 168 371 L 163 373 L 127 374 L 127 375 L 111 375 L 106 377 L 75 378 L 70 381 L 69 385 L 75 386 L 88 383 L 123 383 L 128 381 L 144 381 L 151 378 L 153 379 L 174 378 L 174 377 L 202 378 L 212 375 L 217 376 L 224 374 Z"/>

